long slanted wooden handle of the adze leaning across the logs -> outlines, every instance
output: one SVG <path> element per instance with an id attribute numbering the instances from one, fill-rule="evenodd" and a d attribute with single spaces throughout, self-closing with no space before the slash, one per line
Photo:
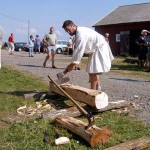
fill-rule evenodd
<path id="1" fill-rule="evenodd" d="M 52 83 L 54 83 L 56 85 L 56 87 L 64 94 L 66 95 L 75 105 L 76 107 L 79 109 L 79 111 L 81 112 L 81 114 L 83 114 L 85 117 L 88 118 L 89 114 L 87 111 L 85 111 L 68 93 L 66 93 L 49 75 L 48 78 L 50 79 L 50 81 L 52 81 Z"/>

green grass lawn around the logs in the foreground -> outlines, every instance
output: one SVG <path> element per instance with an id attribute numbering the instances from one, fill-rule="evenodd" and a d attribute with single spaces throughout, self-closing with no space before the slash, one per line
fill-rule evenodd
<path id="1" fill-rule="evenodd" d="M 113 134 L 109 143 L 95 148 L 91 148 L 82 138 L 56 126 L 52 120 L 24 120 L 13 124 L 3 122 L 2 118 L 16 115 L 18 107 L 35 103 L 33 98 L 25 100 L 23 94 L 37 90 L 48 91 L 48 85 L 39 78 L 9 67 L 2 67 L 0 70 L 0 150 L 68 150 L 69 147 L 72 150 L 103 150 L 127 140 L 150 137 L 150 125 L 136 121 L 128 114 L 119 115 L 114 112 L 98 114 L 103 119 L 96 120 L 96 125 L 98 127 L 109 125 Z M 79 119 L 87 121 L 85 118 Z M 70 145 L 56 147 L 53 144 L 55 128 L 63 136 L 70 138 Z M 45 133 L 49 137 L 48 143 L 43 142 Z"/>

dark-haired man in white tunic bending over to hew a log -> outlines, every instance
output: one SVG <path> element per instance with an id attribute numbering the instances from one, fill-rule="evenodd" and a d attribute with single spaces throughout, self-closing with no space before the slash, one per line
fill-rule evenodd
<path id="1" fill-rule="evenodd" d="M 78 27 L 71 20 L 66 20 L 62 28 L 76 38 L 72 63 L 66 69 L 68 72 L 72 71 L 73 67 L 80 63 L 84 53 L 88 54 L 87 72 L 91 89 L 101 90 L 99 75 L 110 70 L 111 61 L 114 59 L 105 37 L 90 28 Z"/>

